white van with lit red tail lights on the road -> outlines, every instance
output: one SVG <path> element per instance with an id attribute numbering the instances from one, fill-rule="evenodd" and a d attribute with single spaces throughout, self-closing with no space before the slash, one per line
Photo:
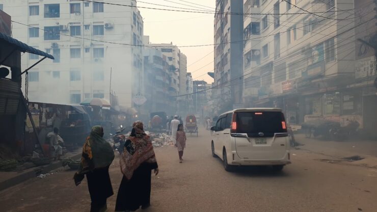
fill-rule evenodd
<path id="1" fill-rule="evenodd" d="M 281 109 L 237 109 L 219 116 L 212 132 L 212 156 L 226 171 L 234 166 L 267 165 L 281 171 L 290 164 L 287 126 Z"/>

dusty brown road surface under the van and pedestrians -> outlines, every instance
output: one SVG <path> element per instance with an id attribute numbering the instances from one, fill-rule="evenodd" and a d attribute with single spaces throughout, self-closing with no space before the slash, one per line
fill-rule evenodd
<path id="1" fill-rule="evenodd" d="M 155 149 L 160 174 L 152 177 L 146 211 L 377 211 L 377 169 L 293 150 L 292 164 L 280 174 L 257 168 L 229 173 L 211 156 L 209 141 L 205 130 L 199 138 L 189 136 L 183 164 L 174 147 Z M 63 170 L 2 191 L 0 210 L 89 211 L 87 184 L 74 187 L 72 176 Z M 111 166 L 115 193 L 121 177 L 117 157 Z M 109 211 L 115 199 L 109 199 Z"/>

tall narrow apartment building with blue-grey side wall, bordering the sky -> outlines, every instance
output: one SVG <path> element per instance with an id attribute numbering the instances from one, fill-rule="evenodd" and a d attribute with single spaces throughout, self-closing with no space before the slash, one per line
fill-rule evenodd
<path id="1" fill-rule="evenodd" d="M 214 17 L 214 101 L 218 113 L 242 102 L 242 1 L 217 0 Z M 233 14 L 232 13 L 237 13 Z"/>

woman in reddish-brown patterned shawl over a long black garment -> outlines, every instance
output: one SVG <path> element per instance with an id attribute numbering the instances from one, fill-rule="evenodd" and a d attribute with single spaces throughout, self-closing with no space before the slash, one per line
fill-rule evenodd
<path id="1" fill-rule="evenodd" d="M 123 178 L 115 211 L 135 211 L 150 206 L 151 170 L 158 174 L 158 165 L 151 138 L 145 134 L 143 122 L 133 123 L 133 129 L 120 157 Z"/>

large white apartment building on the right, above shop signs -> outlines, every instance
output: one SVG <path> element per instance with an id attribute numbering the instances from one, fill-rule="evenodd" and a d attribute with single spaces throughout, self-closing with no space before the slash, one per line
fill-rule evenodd
<path id="1" fill-rule="evenodd" d="M 244 106 L 283 108 L 292 124 L 342 115 L 339 89 L 355 79 L 348 9 L 353 1 L 244 0 L 244 13 L 259 14 L 244 16 Z"/>

